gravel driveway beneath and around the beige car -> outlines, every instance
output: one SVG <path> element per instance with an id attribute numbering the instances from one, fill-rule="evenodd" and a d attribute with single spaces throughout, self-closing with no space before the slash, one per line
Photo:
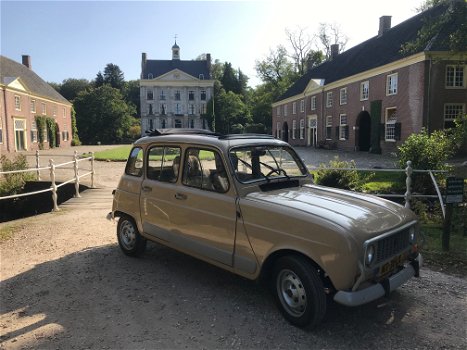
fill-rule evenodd
<path id="1" fill-rule="evenodd" d="M 122 163 L 96 162 L 110 193 Z M 86 192 L 88 192 L 86 191 Z M 108 191 L 108 192 L 107 192 Z M 85 192 L 85 193 L 86 193 Z M 110 199 L 110 196 L 108 197 Z M 255 282 L 148 244 L 123 255 L 111 201 L 0 224 L 1 349 L 465 349 L 467 281 L 422 268 L 371 304 L 330 302 L 323 323 L 289 325 Z"/>

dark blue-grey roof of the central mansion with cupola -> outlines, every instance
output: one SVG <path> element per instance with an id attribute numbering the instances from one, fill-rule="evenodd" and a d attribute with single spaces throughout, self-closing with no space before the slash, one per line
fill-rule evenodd
<path id="1" fill-rule="evenodd" d="M 174 69 L 179 69 L 196 79 L 199 79 L 200 74 L 204 76 L 204 79 L 211 79 L 211 72 L 209 71 L 207 60 L 147 60 L 143 67 L 143 77 L 147 79 L 148 75 L 152 74 L 154 78 L 157 78 Z"/>

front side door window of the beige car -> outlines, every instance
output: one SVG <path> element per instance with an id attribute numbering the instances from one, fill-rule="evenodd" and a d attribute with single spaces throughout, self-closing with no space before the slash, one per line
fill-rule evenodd
<path id="1" fill-rule="evenodd" d="M 227 192 L 229 180 L 221 155 L 212 150 L 189 148 L 185 156 L 183 184 L 207 191 Z"/>

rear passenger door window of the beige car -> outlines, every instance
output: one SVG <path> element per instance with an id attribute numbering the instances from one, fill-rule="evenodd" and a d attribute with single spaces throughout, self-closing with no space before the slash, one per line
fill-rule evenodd
<path id="1" fill-rule="evenodd" d="M 162 182 L 177 182 L 180 154 L 178 147 L 151 147 L 148 152 L 147 178 Z"/>

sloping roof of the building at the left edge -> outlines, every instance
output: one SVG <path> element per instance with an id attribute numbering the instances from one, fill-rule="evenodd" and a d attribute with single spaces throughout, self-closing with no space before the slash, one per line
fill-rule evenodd
<path id="1" fill-rule="evenodd" d="M 56 102 L 71 104 L 52 86 L 25 65 L 0 55 L 0 84 L 8 85 L 13 79 L 20 78 L 28 92 L 37 97 L 47 98 Z"/>

